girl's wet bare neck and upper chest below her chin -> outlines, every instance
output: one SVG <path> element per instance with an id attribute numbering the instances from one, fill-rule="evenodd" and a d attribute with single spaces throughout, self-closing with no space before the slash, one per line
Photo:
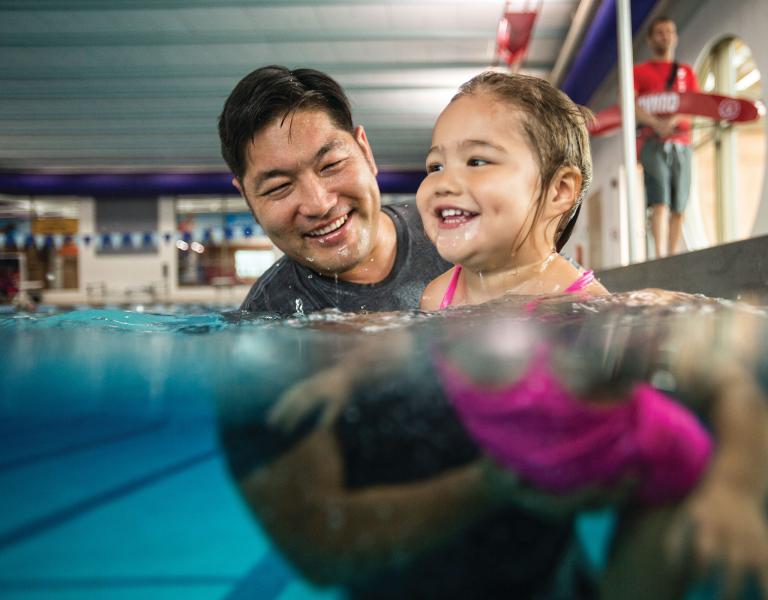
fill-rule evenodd
<path id="1" fill-rule="evenodd" d="M 502 269 L 475 271 L 466 267 L 464 276 L 465 303 L 480 304 L 503 296 L 508 292 L 520 294 L 544 293 L 530 284 L 541 280 L 547 269 L 555 262 L 558 254 L 553 249 L 534 260 L 514 261 Z"/>

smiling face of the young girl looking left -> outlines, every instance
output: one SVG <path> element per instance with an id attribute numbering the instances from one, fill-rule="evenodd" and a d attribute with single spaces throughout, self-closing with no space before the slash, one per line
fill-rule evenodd
<path id="1" fill-rule="evenodd" d="M 536 260 L 526 256 L 530 244 L 518 246 L 538 195 L 539 166 L 517 109 L 488 93 L 445 108 L 416 194 L 424 230 L 443 258 L 485 272 Z"/>

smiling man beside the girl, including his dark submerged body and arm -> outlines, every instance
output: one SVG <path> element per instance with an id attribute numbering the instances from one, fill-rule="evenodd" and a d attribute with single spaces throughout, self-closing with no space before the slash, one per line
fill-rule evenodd
<path id="1" fill-rule="evenodd" d="M 380 207 L 365 131 L 327 75 L 257 69 L 227 99 L 219 134 L 235 187 L 285 253 L 243 308 L 417 308 L 447 270 L 415 203 Z M 511 507 L 516 482 L 478 460 L 428 381 L 371 386 L 335 429 L 285 434 L 258 407 L 222 418 L 232 471 L 277 546 L 356 597 L 591 596 L 571 521 Z"/>

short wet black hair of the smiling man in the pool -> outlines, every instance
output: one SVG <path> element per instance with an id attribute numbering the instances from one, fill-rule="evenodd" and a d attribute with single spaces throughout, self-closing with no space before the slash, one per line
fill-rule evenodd
<path id="1" fill-rule="evenodd" d="M 349 99 L 325 73 L 270 65 L 240 80 L 219 116 L 221 155 L 235 177 L 245 175 L 246 147 L 253 137 L 299 109 L 322 110 L 339 129 L 354 131 Z"/>

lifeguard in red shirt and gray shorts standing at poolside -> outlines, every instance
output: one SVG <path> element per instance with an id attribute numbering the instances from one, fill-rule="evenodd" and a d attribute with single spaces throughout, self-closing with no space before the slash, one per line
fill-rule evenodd
<path id="1" fill-rule="evenodd" d="M 655 18 L 648 29 L 652 58 L 635 65 L 635 95 L 671 91 L 698 92 L 690 65 L 675 60 L 677 28 L 669 17 Z M 656 115 L 636 104 L 645 198 L 651 209 L 656 257 L 675 254 L 691 187 L 691 121 L 683 115 Z M 666 243 L 665 243 L 666 242 Z"/>

